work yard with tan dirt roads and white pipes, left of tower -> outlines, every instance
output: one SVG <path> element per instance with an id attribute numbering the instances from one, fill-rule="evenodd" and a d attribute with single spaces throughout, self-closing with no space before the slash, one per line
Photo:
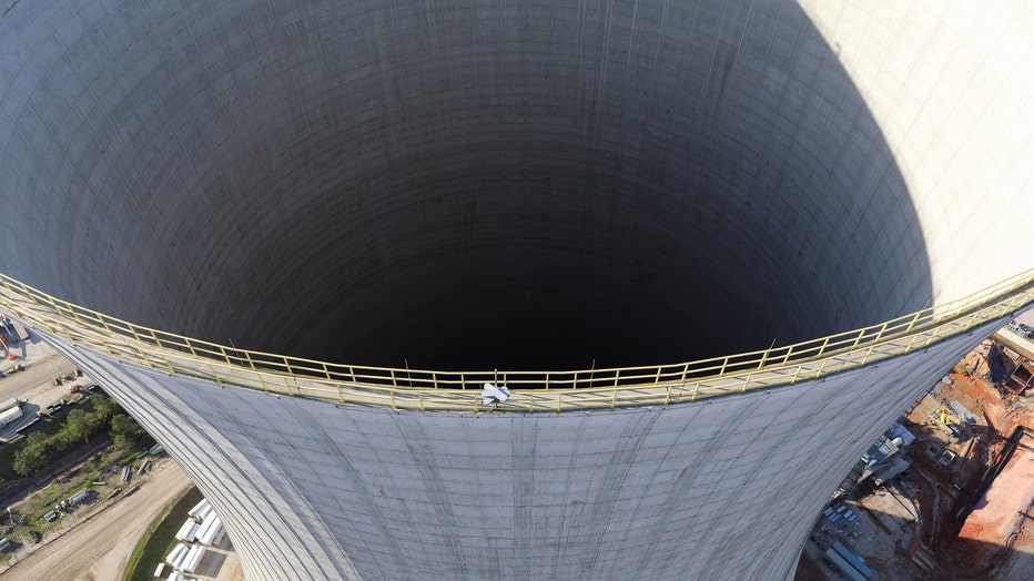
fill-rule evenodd
<path id="1" fill-rule="evenodd" d="M 144 437 L 124 449 L 111 435 L 93 434 L 47 458 L 38 472 L 17 473 L 27 441 L 58 432 L 70 416 L 100 406 L 95 401 L 107 396 L 20 323 L 0 318 L 0 578 L 122 579 L 134 546 L 151 536 L 183 549 L 178 560 L 142 561 L 136 569 L 149 575 L 158 565 L 165 579 L 242 578 L 214 511 L 203 520 L 199 516 L 199 524 L 175 540 L 171 532 L 154 532 L 163 519 L 182 521 L 169 508 L 192 485 L 162 447 Z"/>

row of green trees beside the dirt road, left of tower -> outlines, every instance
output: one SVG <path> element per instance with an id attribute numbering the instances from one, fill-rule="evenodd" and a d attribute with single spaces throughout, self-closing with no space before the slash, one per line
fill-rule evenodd
<path id="1" fill-rule="evenodd" d="M 70 410 L 55 434 L 30 434 L 24 447 L 14 452 L 14 472 L 23 477 L 33 475 L 59 458 L 69 447 L 84 444 L 103 431 L 111 434 L 119 448 L 130 448 L 146 435 L 110 397 L 97 394 L 91 401 L 93 411 L 79 408 Z"/>

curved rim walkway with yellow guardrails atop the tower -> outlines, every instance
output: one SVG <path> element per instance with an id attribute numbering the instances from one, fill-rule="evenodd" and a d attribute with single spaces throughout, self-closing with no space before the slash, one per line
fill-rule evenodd
<path id="1" fill-rule="evenodd" d="M 793 384 L 930 346 L 1032 302 L 1034 268 L 947 304 L 760 351 L 572 371 L 435 371 L 332 364 L 192 339 L 103 315 L 0 275 L 0 307 L 12 317 L 148 367 L 339 404 L 462 411 L 485 409 L 478 397 L 485 383 L 513 393 L 494 409 L 523 411 L 669 405 Z"/>

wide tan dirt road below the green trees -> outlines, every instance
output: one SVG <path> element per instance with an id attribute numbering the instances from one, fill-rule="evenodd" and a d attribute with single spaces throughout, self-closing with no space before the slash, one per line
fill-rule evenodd
<path id="1" fill-rule="evenodd" d="M 119 579 L 151 521 L 191 486 L 183 470 L 166 458 L 140 490 L 37 547 L 31 554 L 16 558 L 14 565 L 0 577 L 3 581 Z"/>

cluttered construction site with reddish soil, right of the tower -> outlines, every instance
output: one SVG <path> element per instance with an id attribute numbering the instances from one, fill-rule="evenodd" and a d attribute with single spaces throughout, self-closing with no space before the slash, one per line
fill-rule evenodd
<path id="1" fill-rule="evenodd" d="M 1023 319 L 969 353 L 859 460 L 798 581 L 1034 579 L 1034 317 Z"/>

